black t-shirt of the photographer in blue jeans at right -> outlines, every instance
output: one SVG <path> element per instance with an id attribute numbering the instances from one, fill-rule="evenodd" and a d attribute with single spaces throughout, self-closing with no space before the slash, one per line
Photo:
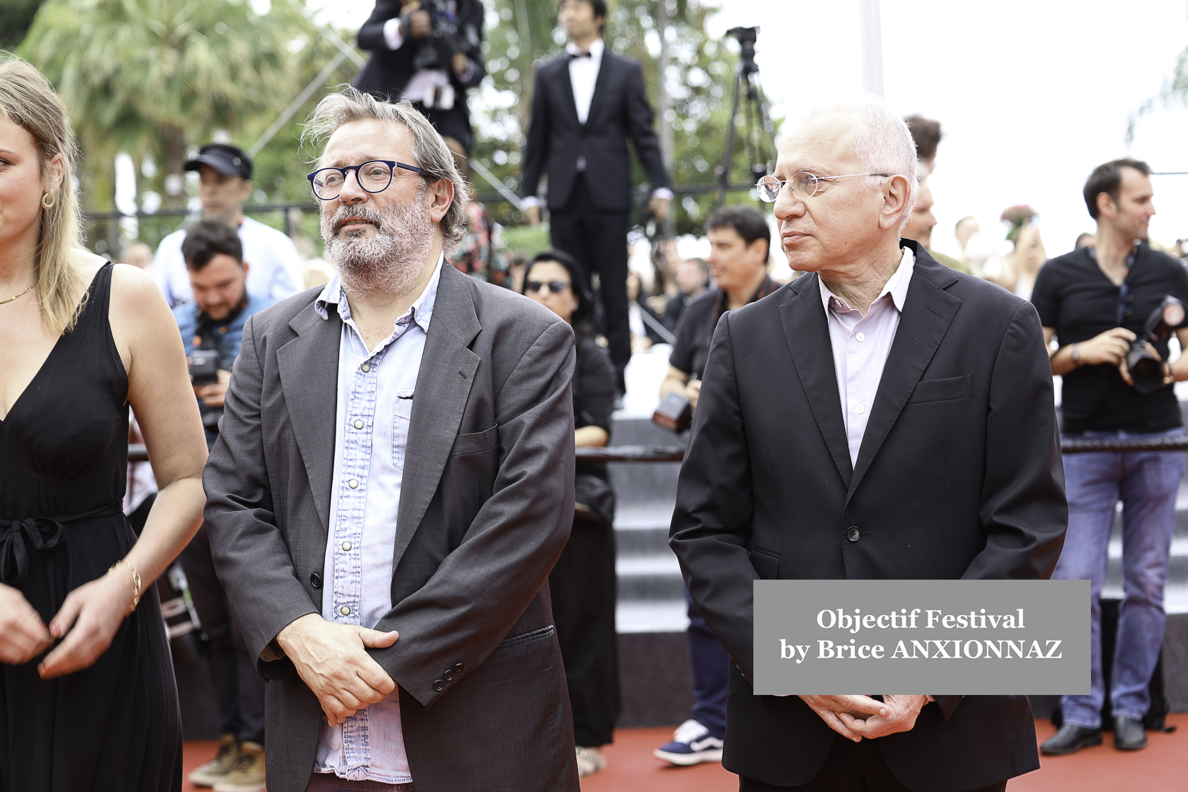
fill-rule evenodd
<path id="1" fill-rule="evenodd" d="M 1088 248 L 1053 259 L 1036 278 L 1031 303 L 1040 323 L 1056 329 L 1061 347 L 1124 327 L 1138 334 L 1151 311 L 1170 294 L 1188 304 L 1188 271 L 1171 256 L 1139 245 L 1126 275 L 1129 297 L 1118 322 L 1121 289 L 1098 266 Z M 1168 359 L 1168 342 L 1155 344 Z M 1116 366 L 1081 366 L 1063 376 L 1061 410 L 1066 432 L 1161 432 L 1183 425 L 1173 386 L 1143 394 L 1126 385 Z"/>

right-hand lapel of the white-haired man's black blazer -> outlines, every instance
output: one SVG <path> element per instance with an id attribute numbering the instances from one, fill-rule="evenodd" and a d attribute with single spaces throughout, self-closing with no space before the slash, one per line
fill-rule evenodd
<path id="1" fill-rule="evenodd" d="M 925 258 L 927 256 L 927 258 Z M 858 464 L 854 477 L 849 482 L 846 502 L 854 496 L 859 482 L 871 467 L 874 455 L 879 452 L 899 412 L 908 403 L 908 397 L 916 388 L 924 369 L 936 353 L 936 348 L 948 332 L 953 317 L 961 306 L 961 299 L 944 291 L 941 285 L 925 275 L 936 275 L 935 270 L 943 270 L 944 285 L 956 280 L 956 277 L 943 265 L 937 264 L 927 252 L 916 253 L 915 272 L 908 286 L 903 313 L 899 316 L 899 328 L 896 330 L 891 351 L 883 367 L 883 379 L 874 395 L 871 418 L 866 423 L 862 445 L 858 450 Z M 940 280 L 940 279 L 939 279 Z"/>

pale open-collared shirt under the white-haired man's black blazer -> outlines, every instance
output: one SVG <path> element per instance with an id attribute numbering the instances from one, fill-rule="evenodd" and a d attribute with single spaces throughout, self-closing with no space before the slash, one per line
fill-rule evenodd
<path id="1" fill-rule="evenodd" d="M 899 266 L 883 286 L 878 299 L 871 303 L 866 316 L 829 291 L 817 274 L 821 304 L 829 323 L 829 344 L 833 347 L 833 369 L 838 374 L 841 414 L 846 420 L 849 463 L 854 465 L 858 464 L 858 450 L 862 446 L 866 422 L 874 406 L 874 395 L 891 353 L 895 331 L 899 328 L 899 315 L 908 299 L 908 286 L 911 285 L 915 268 L 916 256 L 910 249 L 903 248 Z"/>

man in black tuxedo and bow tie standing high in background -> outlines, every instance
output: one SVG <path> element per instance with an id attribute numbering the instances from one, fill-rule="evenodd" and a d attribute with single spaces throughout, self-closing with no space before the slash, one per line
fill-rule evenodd
<path id="1" fill-rule="evenodd" d="M 649 204 L 668 216 L 672 190 L 644 75 L 634 61 L 602 43 L 606 0 L 562 0 L 557 17 L 569 44 L 565 55 L 536 74 L 532 121 L 524 145 L 524 205 L 529 222 L 541 220 L 537 197 L 549 177 L 552 247 L 576 258 L 589 279 L 599 273 L 601 329 L 624 389 L 631 357 L 627 324 L 627 222 L 631 215 L 631 156 L 627 138 L 651 179 Z"/>

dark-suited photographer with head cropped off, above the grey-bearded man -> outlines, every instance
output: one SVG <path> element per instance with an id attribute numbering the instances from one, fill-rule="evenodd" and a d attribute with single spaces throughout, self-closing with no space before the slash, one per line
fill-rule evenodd
<path id="1" fill-rule="evenodd" d="M 355 88 L 381 101 L 412 102 L 467 179 L 474 133 L 466 91 L 487 74 L 482 14 L 481 0 L 377 0 L 359 28 L 359 47 L 372 57 Z"/>

